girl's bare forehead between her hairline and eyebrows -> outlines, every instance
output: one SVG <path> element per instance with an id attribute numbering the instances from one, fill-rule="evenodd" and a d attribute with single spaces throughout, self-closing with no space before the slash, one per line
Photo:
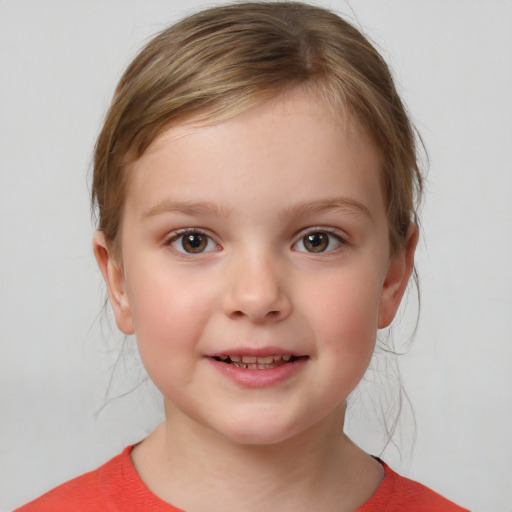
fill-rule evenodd
<path id="1" fill-rule="evenodd" d="M 140 212 L 169 196 L 285 207 L 333 187 L 378 198 L 380 167 L 352 116 L 295 90 L 218 124 L 192 119 L 164 131 L 130 166 L 127 207 Z"/>

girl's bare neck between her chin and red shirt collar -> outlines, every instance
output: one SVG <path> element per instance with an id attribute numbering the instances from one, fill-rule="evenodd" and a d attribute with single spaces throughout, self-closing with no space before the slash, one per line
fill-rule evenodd
<path id="1" fill-rule="evenodd" d="M 343 434 L 344 406 L 263 446 L 233 443 L 171 409 L 132 457 L 149 489 L 184 510 L 354 510 L 382 479 L 380 465 Z"/>

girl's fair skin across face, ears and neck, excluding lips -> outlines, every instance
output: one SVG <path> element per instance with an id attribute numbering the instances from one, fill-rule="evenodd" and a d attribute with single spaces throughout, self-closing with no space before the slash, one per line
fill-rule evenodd
<path id="1" fill-rule="evenodd" d="M 295 90 L 173 127 L 128 170 L 121 254 L 94 237 L 117 325 L 165 400 L 132 458 L 175 506 L 349 511 L 382 480 L 342 434 L 345 404 L 399 306 L 417 229 L 391 253 L 380 157 L 350 121 Z M 203 252 L 186 252 L 186 228 Z M 311 252 L 307 235 L 329 245 Z M 209 357 L 266 347 L 303 364 L 248 388 Z"/>

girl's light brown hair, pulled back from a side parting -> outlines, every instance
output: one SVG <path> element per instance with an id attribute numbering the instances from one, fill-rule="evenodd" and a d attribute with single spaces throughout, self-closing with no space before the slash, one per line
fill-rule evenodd
<path id="1" fill-rule="evenodd" d="M 126 164 L 168 127 L 219 122 L 299 85 L 355 116 L 382 156 L 392 250 L 416 221 L 422 179 L 414 131 L 375 48 L 337 15 L 295 2 L 249 2 L 189 16 L 158 34 L 115 91 L 94 155 L 98 229 L 116 244 Z"/>

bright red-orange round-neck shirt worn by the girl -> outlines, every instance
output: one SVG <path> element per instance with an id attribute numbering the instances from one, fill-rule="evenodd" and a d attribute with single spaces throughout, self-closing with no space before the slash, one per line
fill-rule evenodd
<path id="1" fill-rule="evenodd" d="M 99 467 L 66 482 L 14 512 L 184 512 L 155 496 L 133 466 L 131 446 Z M 468 512 L 382 463 L 377 492 L 356 512 Z"/>

